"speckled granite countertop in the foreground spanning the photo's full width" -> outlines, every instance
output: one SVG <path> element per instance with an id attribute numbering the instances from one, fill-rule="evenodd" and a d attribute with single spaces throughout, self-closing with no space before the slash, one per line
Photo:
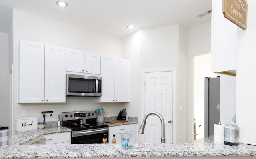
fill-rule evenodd
<path id="1" fill-rule="evenodd" d="M 86 151 L 85 151 L 86 150 Z M 76 158 L 76 157 L 172 157 L 172 156 L 254 156 L 256 146 L 214 143 L 212 137 L 189 143 L 12 145 L 0 150 L 0 158 Z"/>

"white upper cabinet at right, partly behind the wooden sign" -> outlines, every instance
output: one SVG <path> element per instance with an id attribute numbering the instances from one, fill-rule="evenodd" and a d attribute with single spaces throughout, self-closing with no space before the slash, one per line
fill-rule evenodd
<path id="1" fill-rule="evenodd" d="M 212 72 L 236 74 L 237 26 L 224 18 L 222 0 L 212 0 Z"/>

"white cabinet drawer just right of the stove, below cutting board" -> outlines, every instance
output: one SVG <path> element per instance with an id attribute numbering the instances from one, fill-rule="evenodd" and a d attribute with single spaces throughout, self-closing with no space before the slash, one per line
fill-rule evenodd
<path id="1" fill-rule="evenodd" d="M 113 135 L 113 134 L 118 134 L 118 133 L 128 133 L 128 132 L 132 132 L 132 131 L 136 131 L 135 124 L 109 127 L 108 134 Z"/>

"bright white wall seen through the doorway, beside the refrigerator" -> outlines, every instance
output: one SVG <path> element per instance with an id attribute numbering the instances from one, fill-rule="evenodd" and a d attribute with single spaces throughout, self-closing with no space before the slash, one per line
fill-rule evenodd
<path id="1" fill-rule="evenodd" d="M 204 77 L 217 77 L 219 74 L 211 71 L 210 53 L 195 56 L 194 60 L 194 119 L 196 119 L 196 139 L 201 139 L 204 138 Z"/>

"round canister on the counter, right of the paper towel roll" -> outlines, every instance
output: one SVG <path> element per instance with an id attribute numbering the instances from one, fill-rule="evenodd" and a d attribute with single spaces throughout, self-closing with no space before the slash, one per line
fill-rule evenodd
<path id="1" fill-rule="evenodd" d="M 224 144 L 239 145 L 239 127 L 237 124 L 229 123 L 224 126 Z"/>

